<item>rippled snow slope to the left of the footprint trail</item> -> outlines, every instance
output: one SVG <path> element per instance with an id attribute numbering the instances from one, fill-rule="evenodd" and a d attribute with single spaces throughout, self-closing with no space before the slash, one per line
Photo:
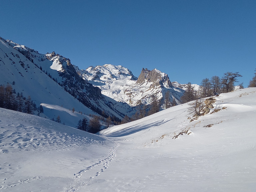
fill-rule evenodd
<path id="1" fill-rule="evenodd" d="M 82 167 L 102 158 L 105 170 L 115 156 L 118 144 L 102 137 L 20 112 L 0 114 L 2 191 L 61 191 Z"/>

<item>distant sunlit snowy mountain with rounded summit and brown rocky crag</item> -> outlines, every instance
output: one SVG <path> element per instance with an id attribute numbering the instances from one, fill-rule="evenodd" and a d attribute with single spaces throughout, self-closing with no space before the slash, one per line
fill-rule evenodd
<path id="1" fill-rule="evenodd" d="M 157 94 L 164 108 L 163 98 L 167 91 L 170 92 L 170 102 L 174 100 L 178 104 L 184 93 L 183 89 L 172 86 L 167 74 L 157 69 L 150 71 L 143 68 L 138 78 L 121 65 L 91 66 L 86 70 L 79 70 L 76 67 L 76 70 L 85 80 L 99 87 L 102 94 L 130 106 L 137 106 L 140 102 L 145 105 L 151 104 L 151 95 Z"/>

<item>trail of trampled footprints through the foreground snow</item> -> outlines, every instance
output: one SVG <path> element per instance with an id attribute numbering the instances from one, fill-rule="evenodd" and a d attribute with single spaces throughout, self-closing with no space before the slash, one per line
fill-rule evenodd
<path id="1" fill-rule="evenodd" d="M 109 162 L 115 160 L 116 150 L 120 146 L 120 143 L 115 142 L 115 146 L 110 149 L 109 155 L 104 159 L 97 161 L 96 163 L 82 168 L 77 173 L 74 173 L 73 183 L 70 184 L 65 192 L 76 192 L 85 185 L 89 185 L 93 180 L 97 178 L 102 172 L 106 171 L 109 166 Z"/>

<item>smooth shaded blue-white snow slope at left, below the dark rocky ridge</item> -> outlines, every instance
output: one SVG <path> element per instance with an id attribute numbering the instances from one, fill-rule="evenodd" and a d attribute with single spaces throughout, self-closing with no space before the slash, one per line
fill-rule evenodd
<path id="1" fill-rule="evenodd" d="M 73 107 L 76 112 L 80 111 L 86 115 L 97 114 L 66 92 L 28 58 L 0 39 L 0 84 L 7 83 L 11 84 L 17 93 L 22 92 L 25 97 L 31 96 L 37 106 L 42 104 L 42 117 L 56 119 L 59 115 L 62 123 L 76 126 L 79 119 L 85 115 L 73 113 L 71 116 L 67 111 L 72 112 Z"/>

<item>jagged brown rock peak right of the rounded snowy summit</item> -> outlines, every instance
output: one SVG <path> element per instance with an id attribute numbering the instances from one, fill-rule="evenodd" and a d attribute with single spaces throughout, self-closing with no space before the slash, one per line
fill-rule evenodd
<path id="1" fill-rule="evenodd" d="M 148 70 L 147 68 L 142 68 L 142 71 L 138 77 L 137 84 L 142 84 L 145 82 L 153 82 L 153 86 L 165 86 L 167 88 L 172 87 L 172 83 L 169 80 L 167 74 L 162 73 L 157 69 Z"/>

